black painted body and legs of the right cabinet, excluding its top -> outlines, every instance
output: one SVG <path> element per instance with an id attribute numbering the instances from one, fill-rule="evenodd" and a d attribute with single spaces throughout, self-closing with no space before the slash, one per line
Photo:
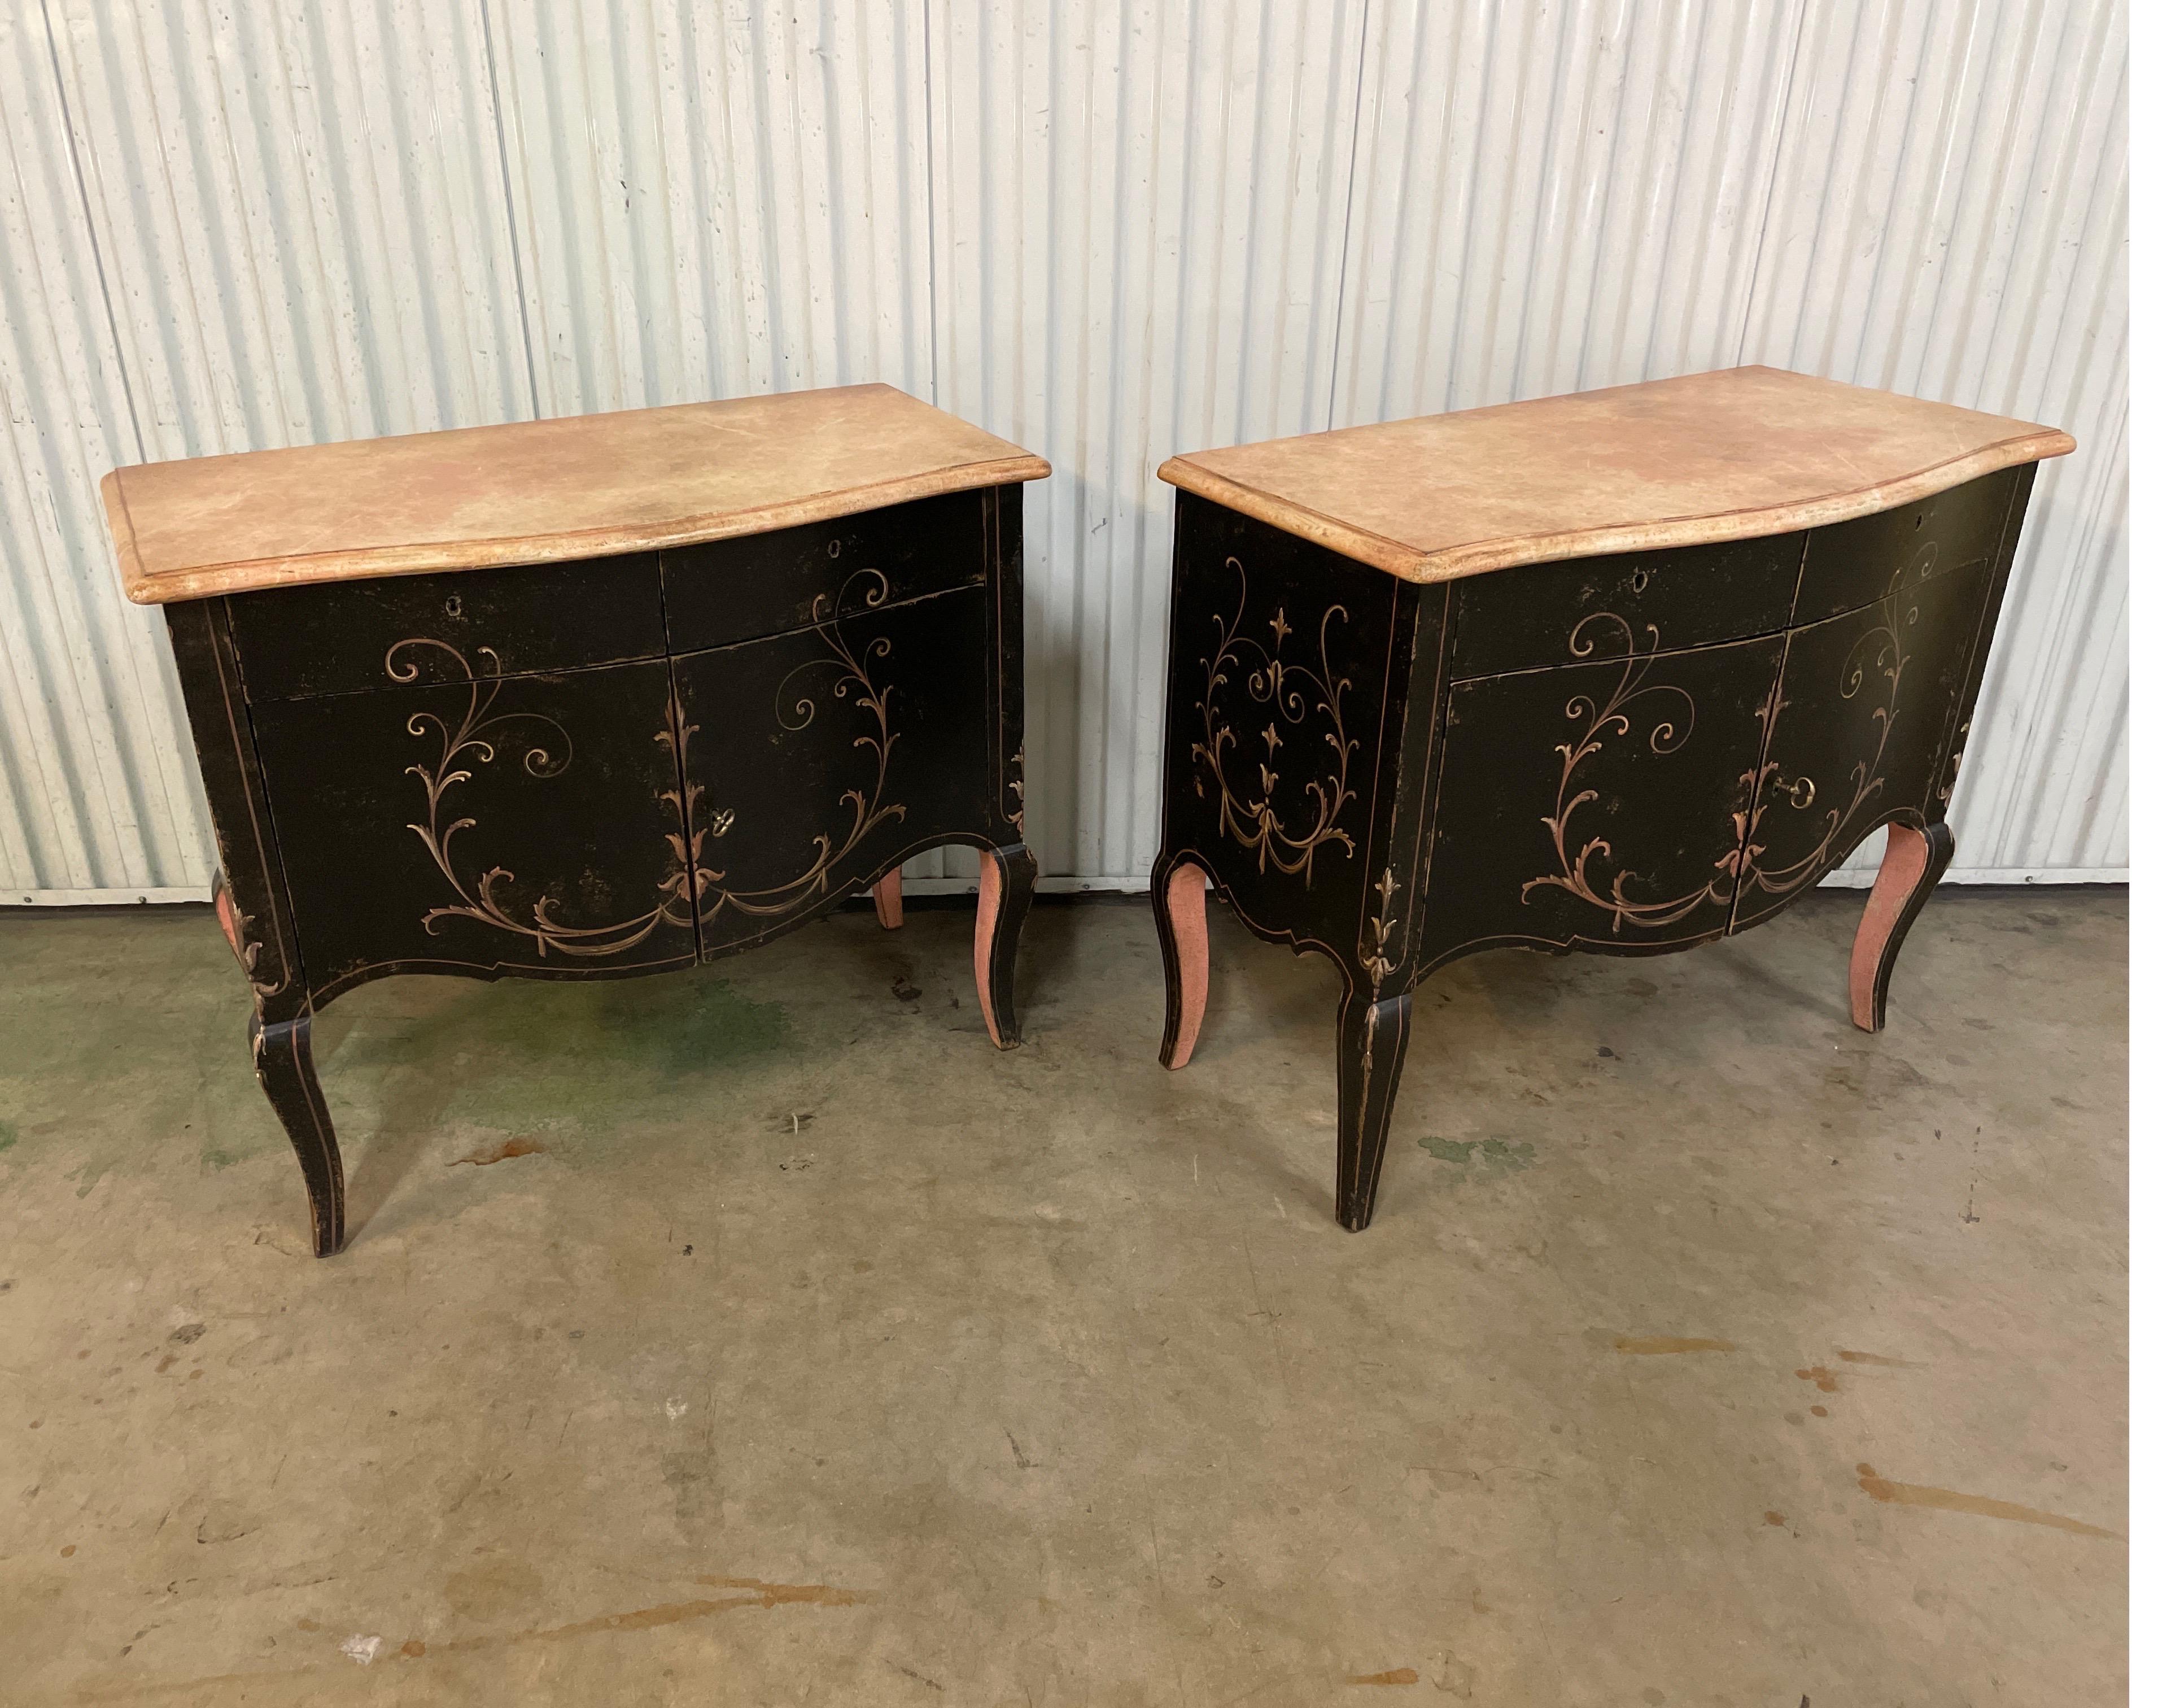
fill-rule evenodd
<path id="1" fill-rule="evenodd" d="M 1493 947 L 1663 953 L 1897 827 L 1853 1012 L 1951 855 L 2034 465 L 1825 528 L 1404 580 L 1179 495 L 1153 907 L 1164 1060 L 1208 883 L 1341 971 L 1336 1211 L 1369 1224 L 1415 986 Z"/>

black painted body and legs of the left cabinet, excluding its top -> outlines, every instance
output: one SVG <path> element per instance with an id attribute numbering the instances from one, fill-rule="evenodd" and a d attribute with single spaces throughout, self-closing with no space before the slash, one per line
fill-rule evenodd
<path id="1" fill-rule="evenodd" d="M 366 979 L 656 973 L 872 888 L 898 923 L 900 864 L 964 842 L 985 1025 L 1018 1041 L 1020 504 L 166 606 L 320 1254 L 344 1213 L 310 1021 Z"/>

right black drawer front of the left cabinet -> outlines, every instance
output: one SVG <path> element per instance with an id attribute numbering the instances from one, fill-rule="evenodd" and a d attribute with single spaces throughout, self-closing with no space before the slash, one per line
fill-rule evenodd
<path id="1" fill-rule="evenodd" d="M 702 652 L 983 580 L 985 493 L 682 545 L 663 554 L 676 652 Z"/>

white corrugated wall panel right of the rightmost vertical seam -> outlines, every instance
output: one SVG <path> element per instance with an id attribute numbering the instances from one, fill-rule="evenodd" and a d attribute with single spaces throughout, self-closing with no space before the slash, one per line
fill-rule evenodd
<path id="1" fill-rule="evenodd" d="M 1812 4 L 1742 353 L 2067 428 L 1947 818 L 1960 866 L 2128 864 L 2126 17 Z"/>

